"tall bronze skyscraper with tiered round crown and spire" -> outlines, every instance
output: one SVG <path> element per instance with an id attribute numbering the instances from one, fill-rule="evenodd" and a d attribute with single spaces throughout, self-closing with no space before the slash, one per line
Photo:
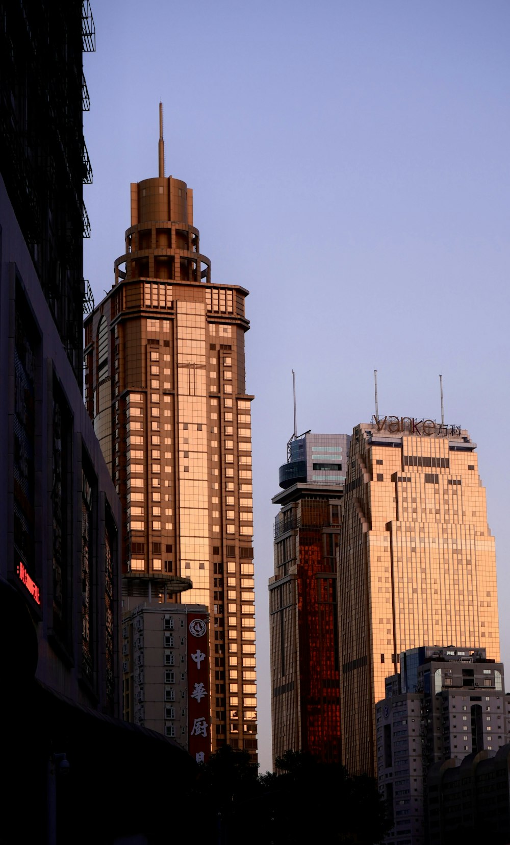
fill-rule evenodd
<path id="1" fill-rule="evenodd" d="M 124 595 L 207 606 L 212 750 L 254 757 L 248 292 L 211 282 L 193 192 L 165 177 L 161 104 L 158 146 L 159 175 L 131 185 L 111 291 L 85 322 L 85 402 L 123 504 Z"/>

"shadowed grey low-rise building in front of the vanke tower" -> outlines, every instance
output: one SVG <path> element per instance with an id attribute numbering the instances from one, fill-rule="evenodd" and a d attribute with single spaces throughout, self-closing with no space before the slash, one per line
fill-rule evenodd
<path id="1" fill-rule="evenodd" d="M 503 665 L 483 648 L 420 646 L 399 657 L 376 706 L 377 783 L 393 821 L 384 842 L 425 845 L 427 806 L 431 820 L 440 815 L 427 773 L 506 745 L 509 705 Z"/>

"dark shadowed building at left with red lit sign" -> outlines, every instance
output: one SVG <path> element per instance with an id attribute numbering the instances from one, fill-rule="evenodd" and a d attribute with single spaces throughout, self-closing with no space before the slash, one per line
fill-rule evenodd
<path id="1" fill-rule="evenodd" d="M 2 842 L 114 842 L 194 763 L 124 724 L 120 503 L 82 399 L 88 3 L 0 3 Z M 151 771 L 152 778 L 138 778 Z M 175 774 L 178 777 L 175 777 Z M 126 783 L 137 801 L 122 814 Z M 175 783 L 177 782 L 177 784 Z"/>

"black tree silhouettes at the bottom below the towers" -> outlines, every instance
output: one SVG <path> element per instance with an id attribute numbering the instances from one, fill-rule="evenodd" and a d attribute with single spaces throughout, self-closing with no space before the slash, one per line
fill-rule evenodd
<path id="1" fill-rule="evenodd" d="M 193 807 L 220 845 L 301 845 L 324 838 L 375 845 L 390 825 L 371 777 L 286 751 L 279 773 L 258 777 L 249 755 L 225 746 L 199 767 Z"/>

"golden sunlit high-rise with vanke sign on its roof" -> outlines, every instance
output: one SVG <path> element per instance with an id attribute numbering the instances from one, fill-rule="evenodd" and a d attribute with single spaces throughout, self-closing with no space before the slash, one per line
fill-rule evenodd
<path id="1" fill-rule="evenodd" d="M 469 643 L 499 660 L 496 553 L 476 444 L 460 426 L 356 426 L 339 547 L 342 761 L 374 774 L 375 703 L 399 653 Z"/>

